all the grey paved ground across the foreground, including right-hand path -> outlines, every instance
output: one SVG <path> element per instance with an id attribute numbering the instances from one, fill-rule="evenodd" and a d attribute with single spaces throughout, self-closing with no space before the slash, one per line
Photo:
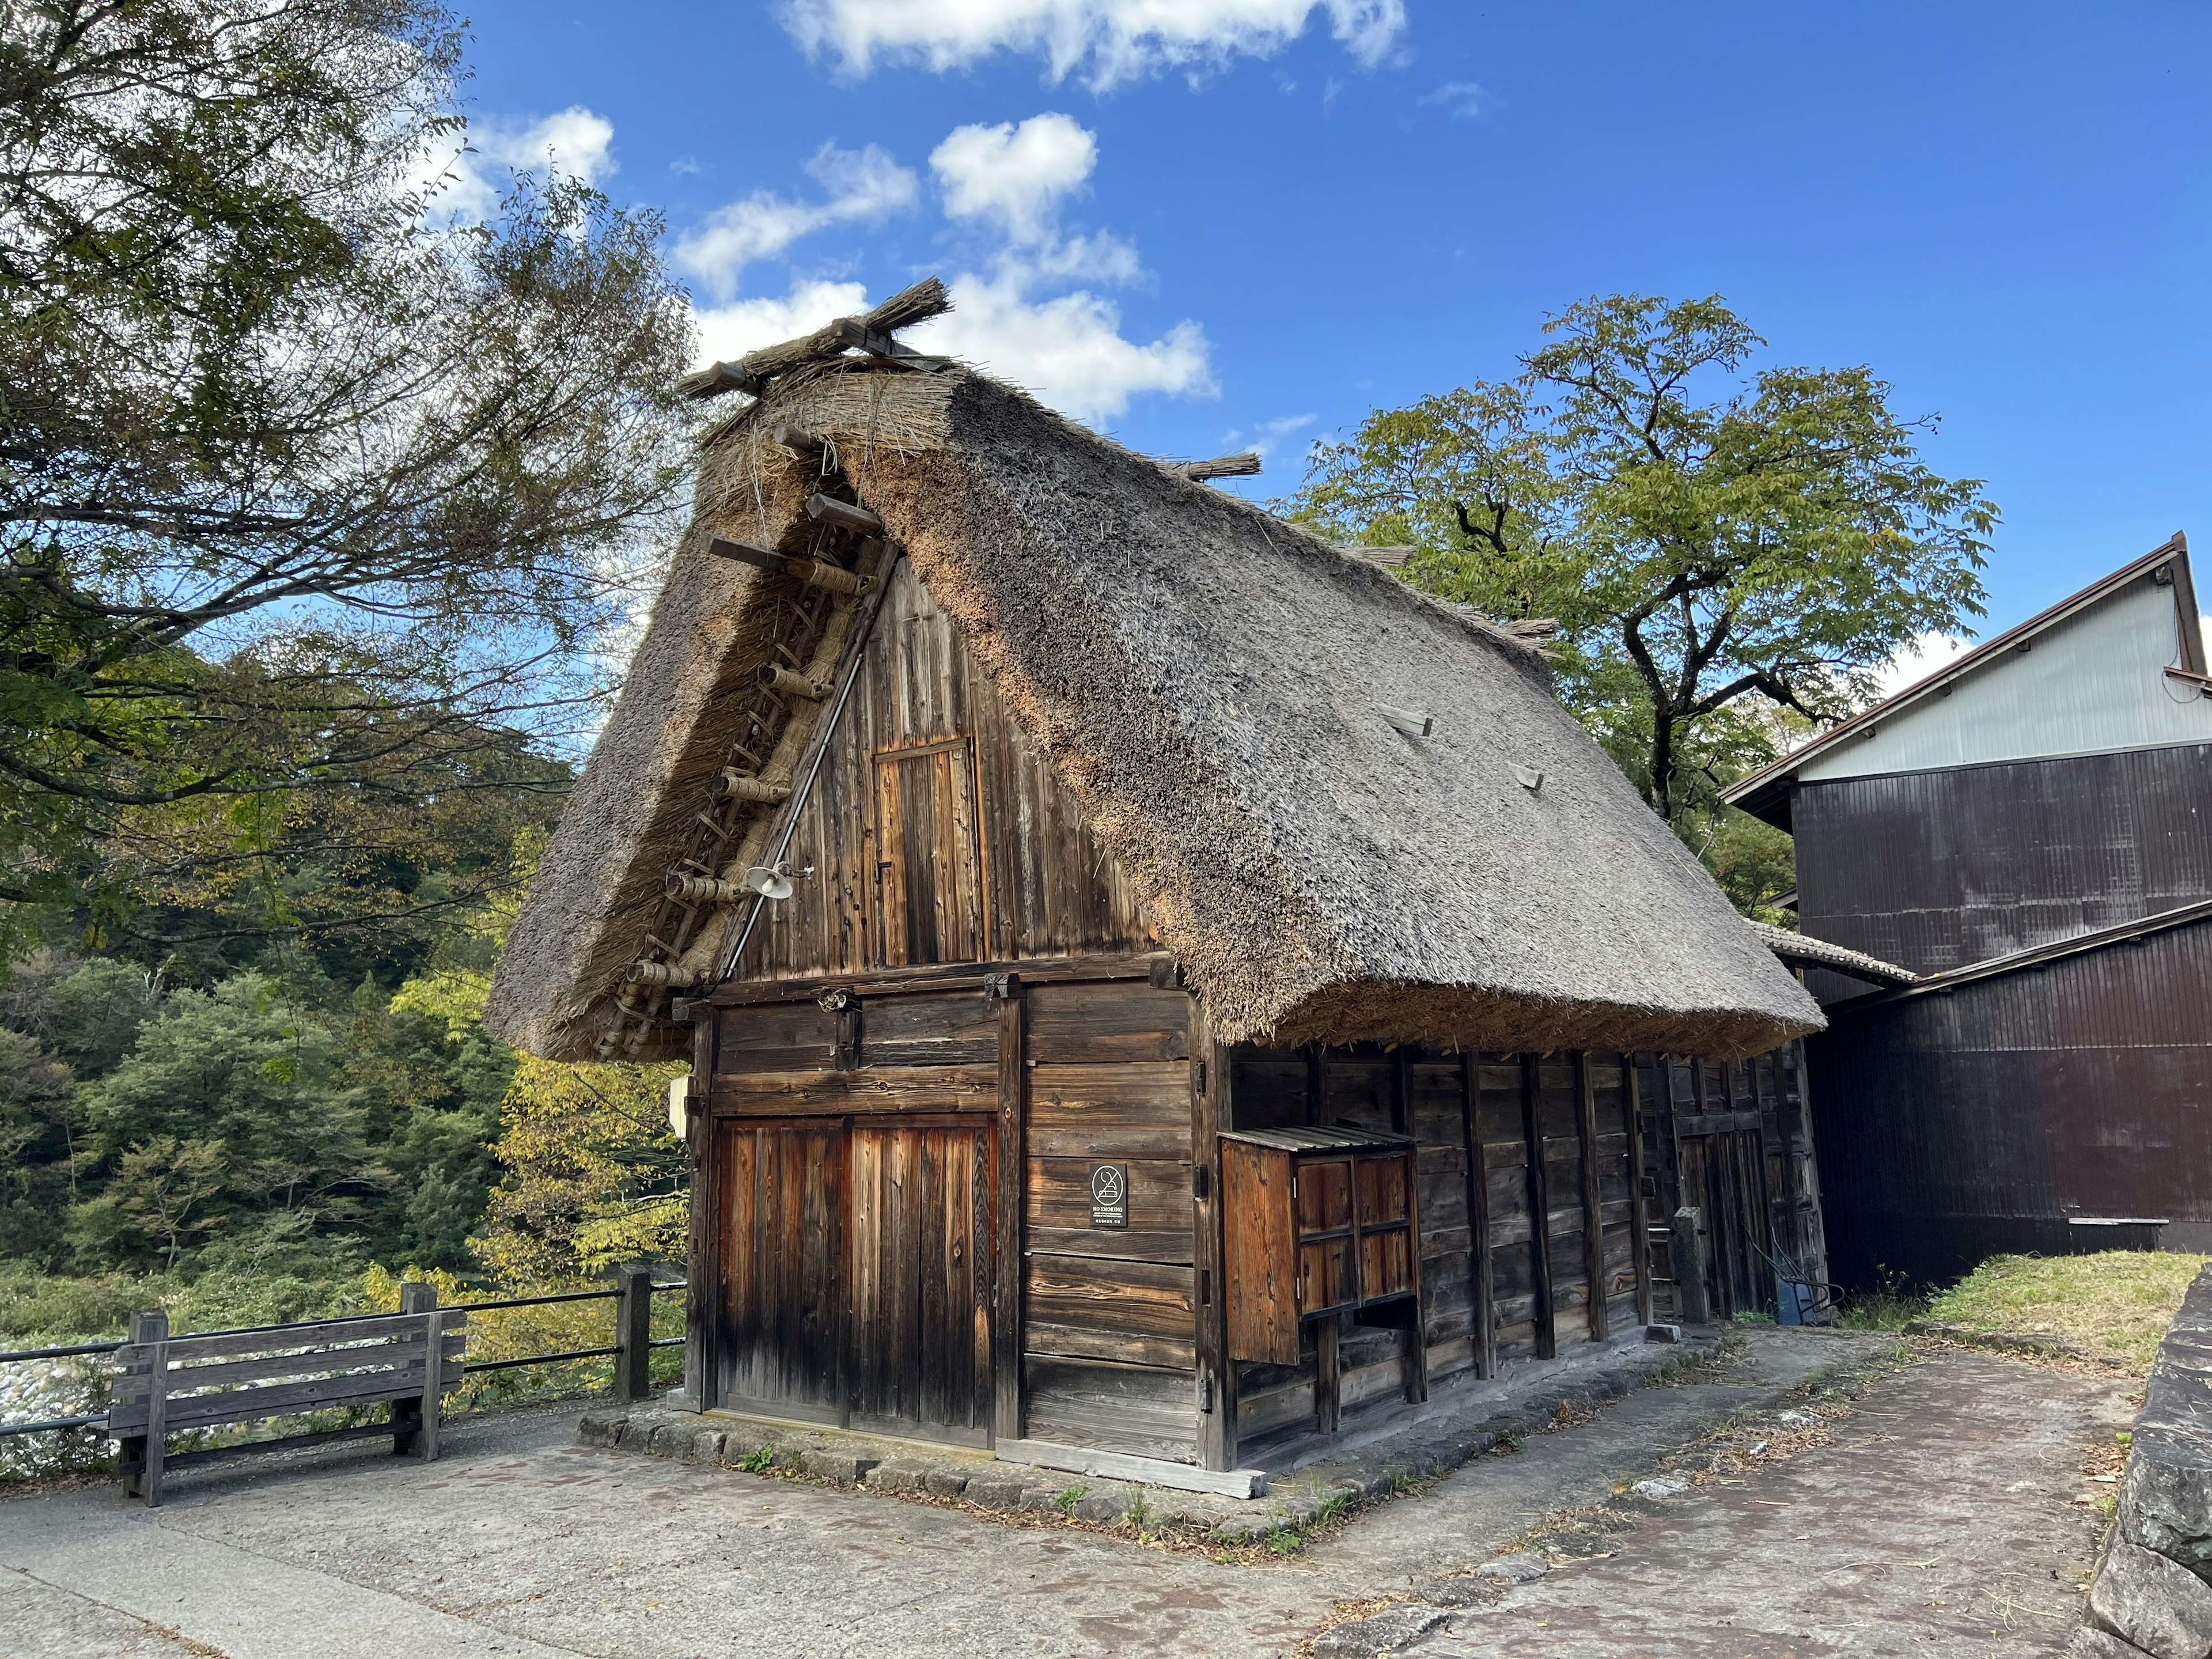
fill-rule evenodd
<path id="1" fill-rule="evenodd" d="M 0 1502 L 0 1659 L 1290 1655 L 1340 1599 L 1462 1571 L 1772 1400 L 1805 1369 L 1785 1336 L 1759 1334 L 1752 1374 L 1632 1396 L 1263 1568 L 577 1447 L 575 1409 L 460 1425 L 431 1467 L 186 1471 L 153 1513 L 51 1489 Z M 1655 1504 L 1613 1555 L 1416 1652 L 2057 1652 L 2095 1531 L 2079 1460 L 2126 1418 L 2119 1385 L 1938 1356 L 1838 1444 Z"/>

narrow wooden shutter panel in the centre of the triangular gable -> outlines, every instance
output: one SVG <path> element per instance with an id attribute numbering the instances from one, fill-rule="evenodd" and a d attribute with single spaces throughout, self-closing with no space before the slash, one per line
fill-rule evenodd
<path id="1" fill-rule="evenodd" d="M 989 929 L 975 739 L 876 752 L 883 967 L 980 962 Z"/>

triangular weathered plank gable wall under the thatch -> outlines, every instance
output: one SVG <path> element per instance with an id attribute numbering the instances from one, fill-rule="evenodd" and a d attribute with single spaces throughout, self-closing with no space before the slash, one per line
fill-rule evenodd
<path id="1" fill-rule="evenodd" d="M 1155 949 L 1075 799 L 900 560 L 743 980 Z"/>

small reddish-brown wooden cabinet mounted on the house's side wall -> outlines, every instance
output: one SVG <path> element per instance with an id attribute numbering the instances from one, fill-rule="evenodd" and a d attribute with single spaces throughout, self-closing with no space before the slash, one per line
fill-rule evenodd
<path id="1" fill-rule="evenodd" d="M 1420 1321 L 1413 1141 L 1356 1128 L 1221 1135 L 1230 1358 L 1298 1363 L 1298 1325 L 1389 1310 Z M 1407 1307 L 1407 1303 L 1411 1303 Z"/>

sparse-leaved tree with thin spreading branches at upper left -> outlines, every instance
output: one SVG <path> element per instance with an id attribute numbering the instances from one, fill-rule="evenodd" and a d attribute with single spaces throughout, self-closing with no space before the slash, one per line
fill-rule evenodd
<path id="1" fill-rule="evenodd" d="M 686 473 L 686 310 L 659 223 L 573 179 L 440 210 L 458 75 L 434 0 L 0 13 L 13 945 L 27 900 L 97 936 L 316 812 L 369 869 L 595 695 Z M 243 925 L 301 925 L 261 887 Z"/>

